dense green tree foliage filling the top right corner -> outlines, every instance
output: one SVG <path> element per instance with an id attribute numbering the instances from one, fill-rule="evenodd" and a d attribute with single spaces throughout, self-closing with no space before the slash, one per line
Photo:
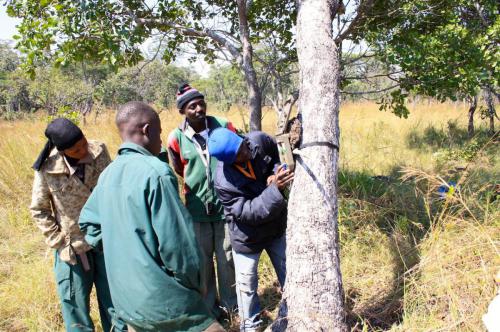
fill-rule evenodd
<path id="1" fill-rule="evenodd" d="M 481 89 L 496 94 L 500 81 L 500 16 L 497 1 L 377 1 L 365 21 L 364 36 L 372 52 L 387 66 L 399 69 L 394 90 L 384 100 L 405 116 L 410 94 L 467 100 L 469 133 Z M 387 15 L 384 17 L 383 15 Z M 490 103 L 490 130 L 494 132 L 494 103 Z"/>

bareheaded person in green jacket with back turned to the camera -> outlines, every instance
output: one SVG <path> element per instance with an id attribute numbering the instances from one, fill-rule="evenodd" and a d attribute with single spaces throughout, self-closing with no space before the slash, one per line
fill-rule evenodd
<path id="1" fill-rule="evenodd" d="M 116 124 L 124 143 L 79 221 L 91 246 L 102 242 L 116 316 L 131 331 L 224 331 L 203 301 L 199 249 L 176 177 L 157 157 L 158 114 L 129 102 Z"/>

